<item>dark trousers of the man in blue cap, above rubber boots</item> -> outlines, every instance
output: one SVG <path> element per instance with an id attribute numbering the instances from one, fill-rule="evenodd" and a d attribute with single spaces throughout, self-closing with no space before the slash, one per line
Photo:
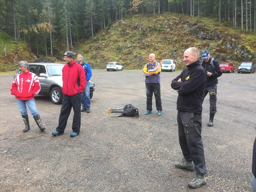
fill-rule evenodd
<path id="1" fill-rule="evenodd" d="M 214 90 L 214 92 L 211 92 L 211 90 Z M 204 102 L 205 96 L 209 93 L 210 95 L 210 113 L 216 113 L 217 112 L 217 107 L 216 107 L 216 102 L 217 102 L 217 84 L 213 84 L 211 86 L 204 87 L 204 92 L 203 92 L 203 100 L 202 104 Z"/>

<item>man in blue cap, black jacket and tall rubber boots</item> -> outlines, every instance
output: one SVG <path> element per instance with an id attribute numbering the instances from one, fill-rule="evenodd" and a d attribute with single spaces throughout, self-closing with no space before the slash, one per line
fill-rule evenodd
<path id="1" fill-rule="evenodd" d="M 222 75 L 220 71 L 219 62 L 216 59 L 213 59 L 213 66 L 211 64 L 212 57 L 210 57 L 210 53 L 208 50 L 204 50 L 201 53 L 201 59 L 203 60 L 202 66 L 206 71 L 206 84 L 204 86 L 203 92 L 203 100 L 204 102 L 205 96 L 209 93 L 210 95 L 210 119 L 208 123 L 208 127 L 212 127 L 213 118 L 215 113 L 217 112 L 216 102 L 217 102 L 217 84 L 218 77 Z"/>

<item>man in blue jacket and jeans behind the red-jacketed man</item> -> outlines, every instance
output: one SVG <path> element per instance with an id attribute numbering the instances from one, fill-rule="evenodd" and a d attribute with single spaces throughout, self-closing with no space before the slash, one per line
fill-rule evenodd
<path id="1" fill-rule="evenodd" d="M 82 102 L 81 111 L 82 112 L 86 111 L 87 113 L 90 113 L 91 101 L 90 101 L 90 82 L 89 82 L 89 80 L 92 77 L 92 70 L 91 70 L 90 65 L 83 61 L 84 57 L 81 54 L 77 55 L 76 58 L 77 58 L 78 64 L 80 64 L 83 67 L 85 76 L 86 76 L 85 89 L 81 95 L 81 102 Z"/>

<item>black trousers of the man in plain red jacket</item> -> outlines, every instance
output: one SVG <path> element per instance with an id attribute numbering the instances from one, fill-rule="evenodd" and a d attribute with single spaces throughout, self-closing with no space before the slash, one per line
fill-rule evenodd
<path id="1" fill-rule="evenodd" d="M 81 126 L 81 94 L 77 93 L 73 96 L 63 95 L 62 105 L 60 109 L 59 126 L 56 131 L 63 133 L 70 115 L 71 109 L 73 107 L 74 117 L 72 123 L 72 130 L 75 133 L 80 132 Z"/>

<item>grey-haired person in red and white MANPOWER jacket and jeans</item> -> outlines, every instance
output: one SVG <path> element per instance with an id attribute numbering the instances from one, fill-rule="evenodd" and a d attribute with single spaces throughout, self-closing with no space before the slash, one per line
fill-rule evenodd
<path id="1" fill-rule="evenodd" d="M 37 126 L 41 131 L 44 131 L 45 127 L 43 126 L 36 109 L 36 102 L 34 99 L 34 95 L 39 93 L 41 87 L 36 74 L 29 72 L 28 67 L 29 65 L 27 61 L 19 62 L 21 73 L 16 76 L 12 82 L 11 94 L 15 95 L 22 119 L 25 123 L 25 129 L 23 132 L 27 132 L 30 129 L 26 104 L 31 115 L 34 117 Z"/>

